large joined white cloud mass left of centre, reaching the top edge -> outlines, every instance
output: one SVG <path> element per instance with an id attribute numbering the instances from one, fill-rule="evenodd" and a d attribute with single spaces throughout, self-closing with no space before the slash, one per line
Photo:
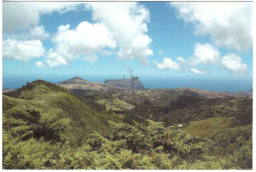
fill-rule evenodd
<path id="1" fill-rule="evenodd" d="M 96 23 L 82 22 L 75 29 L 60 26 L 52 39 L 55 47 L 45 57 L 49 66 L 67 65 L 81 57 L 95 63 L 96 54 L 106 51 L 115 52 L 122 60 L 139 59 L 148 64 L 148 56 L 153 55 L 149 47 L 152 39 L 146 34 L 148 9 L 135 2 L 86 3 L 86 9 L 92 10 Z"/>

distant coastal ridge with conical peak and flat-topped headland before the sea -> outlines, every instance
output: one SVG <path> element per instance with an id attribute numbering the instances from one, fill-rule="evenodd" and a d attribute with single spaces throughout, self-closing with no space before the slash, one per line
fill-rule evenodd
<path id="1" fill-rule="evenodd" d="M 93 94 L 100 92 L 107 92 L 107 91 L 114 91 L 114 90 L 121 90 L 125 91 L 126 89 L 131 90 L 130 87 L 127 86 L 129 83 L 131 83 L 132 79 L 121 79 L 121 80 L 112 80 L 108 79 L 105 80 L 104 83 L 100 82 L 89 82 L 87 80 L 84 80 L 80 77 L 74 77 L 66 81 L 55 83 L 57 86 L 62 86 L 72 93 L 78 95 L 78 96 L 85 96 L 87 94 Z M 40 80 L 38 80 L 40 81 Z M 124 82 L 126 81 L 126 82 Z M 33 82 L 32 82 L 33 83 Z M 30 85 L 32 85 L 32 83 Z M 128 84 L 127 84 L 128 83 Z M 138 84 L 138 85 L 136 85 Z M 29 85 L 29 86 L 30 86 Z M 24 86 L 23 86 L 24 87 Z M 22 87 L 22 88 L 23 88 Z M 28 86 L 27 86 L 28 88 Z M 10 96 L 15 96 L 17 94 L 17 91 L 19 91 L 21 88 L 18 89 L 3 89 L 3 93 Z M 135 81 L 134 89 L 138 90 L 140 89 L 143 91 L 147 90 L 173 90 L 178 94 L 184 94 L 184 95 L 200 95 L 207 98 L 228 98 L 228 97 L 236 97 L 236 96 L 252 96 L 253 90 L 250 89 L 248 91 L 238 91 L 238 92 L 228 92 L 228 91 L 212 91 L 212 90 L 205 90 L 205 89 L 198 89 L 193 87 L 177 87 L 177 88 L 155 88 L 155 89 L 147 89 L 144 88 L 144 86 L 141 84 L 139 80 Z"/>

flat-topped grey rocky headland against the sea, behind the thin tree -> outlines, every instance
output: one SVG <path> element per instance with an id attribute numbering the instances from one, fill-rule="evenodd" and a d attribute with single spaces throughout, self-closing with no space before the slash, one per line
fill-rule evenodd
<path id="1" fill-rule="evenodd" d="M 132 79 L 106 80 L 104 83 L 108 84 L 108 85 L 119 86 L 119 87 L 124 87 L 124 88 L 128 88 L 128 89 L 132 88 Z M 134 89 L 145 88 L 139 79 L 134 80 L 133 84 L 134 84 L 134 86 L 133 86 Z"/>

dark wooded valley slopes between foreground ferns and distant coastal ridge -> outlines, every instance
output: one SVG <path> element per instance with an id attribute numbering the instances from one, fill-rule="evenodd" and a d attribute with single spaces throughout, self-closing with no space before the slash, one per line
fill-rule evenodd
<path id="1" fill-rule="evenodd" d="M 76 93 L 80 94 L 80 92 Z M 142 122 L 145 121 L 143 119 L 150 118 L 164 122 L 165 125 L 172 125 L 213 117 L 239 116 L 238 114 L 243 114 L 243 112 L 249 117 L 252 113 L 250 108 L 252 97 L 249 93 L 245 95 L 245 93 L 238 94 L 185 87 L 135 89 L 134 91 L 128 89 L 87 90 L 83 93 L 85 93 L 84 99 L 91 102 L 101 102 L 101 105 L 105 106 L 102 108 L 107 111 L 118 109 L 116 113 L 125 114 L 124 121 L 130 124 L 133 123 L 133 119 Z M 127 105 L 120 107 L 120 103 L 114 99 L 123 101 L 123 104 L 128 103 L 133 108 L 123 108 Z M 242 103 L 243 101 L 244 103 Z M 222 103 L 223 105 L 220 105 Z"/>

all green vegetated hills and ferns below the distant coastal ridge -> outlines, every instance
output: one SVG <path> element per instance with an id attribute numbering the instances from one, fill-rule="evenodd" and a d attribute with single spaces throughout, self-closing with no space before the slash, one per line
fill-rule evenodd
<path id="1" fill-rule="evenodd" d="M 158 104 L 171 92 L 138 91 L 82 98 L 36 81 L 3 95 L 3 168 L 252 168 L 251 97 L 175 95 Z"/>

